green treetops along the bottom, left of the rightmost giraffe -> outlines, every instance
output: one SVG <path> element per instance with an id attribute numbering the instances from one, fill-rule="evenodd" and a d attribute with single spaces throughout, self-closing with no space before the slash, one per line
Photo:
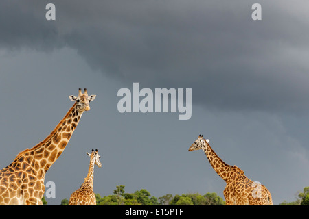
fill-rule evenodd
<path id="1" fill-rule="evenodd" d="M 198 193 L 166 194 L 159 198 L 151 196 L 150 192 L 145 189 L 134 193 L 126 193 L 124 185 L 117 185 L 113 194 L 101 197 L 95 194 L 97 205 L 225 205 L 225 201 L 216 193 L 207 193 L 204 195 Z M 62 199 L 60 205 L 69 205 L 67 198 Z"/>

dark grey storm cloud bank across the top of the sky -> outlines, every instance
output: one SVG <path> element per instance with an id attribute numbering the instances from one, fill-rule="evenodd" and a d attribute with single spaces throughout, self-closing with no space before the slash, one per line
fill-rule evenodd
<path id="1" fill-rule="evenodd" d="M 209 109 L 309 108 L 309 32 L 290 3 L 260 1 L 253 21 L 253 1 L 54 1 L 51 22 L 47 1 L 14 3 L 1 3 L 2 47 L 71 47 L 128 86 L 192 88 Z"/>

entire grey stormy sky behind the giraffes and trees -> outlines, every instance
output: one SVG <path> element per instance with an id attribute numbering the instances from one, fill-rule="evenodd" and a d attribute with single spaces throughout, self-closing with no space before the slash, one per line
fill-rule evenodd
<path id="1" fill-rule="evenodd" d="M 47 3 L 56 20 L 47 21 Z M 262 20 L 253 21 L 253 3 Z M 94 191 L 216 192 L 216 153 L 270 190 L 275 205 L 309 184 L 307 1 L 0 1 L 0 168 L 41 142 L 87 88 L 97 98 L 45 177 L 79 188 L 98 149 Z M 119 113 L 120 88 L 192 88 L 192 117 Z"/>

